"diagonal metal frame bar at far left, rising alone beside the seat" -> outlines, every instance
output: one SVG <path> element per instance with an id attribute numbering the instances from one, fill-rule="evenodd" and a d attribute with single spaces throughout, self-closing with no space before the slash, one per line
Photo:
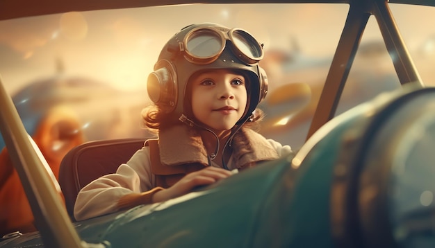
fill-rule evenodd
<path id="1" fill-rule="evenodd" d="M 82 247 L 60 195 L 31 144 L 13 100 L 0 78 L 0 131 L 22 181 L 35 225 L 46 247 Z"/>

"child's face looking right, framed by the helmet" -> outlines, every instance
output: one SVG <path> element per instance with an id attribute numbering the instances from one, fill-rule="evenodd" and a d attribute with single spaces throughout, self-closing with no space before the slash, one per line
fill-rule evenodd
<path id="1" fill-rule="evenodd" d="M 191 79 L 192 112 L 215 132 L 230 130 L 245 113 L 245 77 L 227 69 L 205 71 Z"/>

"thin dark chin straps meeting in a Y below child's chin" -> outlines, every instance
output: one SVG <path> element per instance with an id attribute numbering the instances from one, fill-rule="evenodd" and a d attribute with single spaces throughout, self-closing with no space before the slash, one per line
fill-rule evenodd
<path id="1" fill-rule="evenodd" d="M 233 140 L 234 134 L 236 134 L 236 132 L 238 132 L 238 130 L 240 130 L 240 128 L 243 126 L 243 124 L 245 124 L 247 121 L 252 120 L 252 116 L 249 116 L 249 118 L 246 118 L 245 121 L 243 121 L 242 123 L 236 125 L 235 127 L 231 128 L 231 134 L 229 135 L 229 138 L 227 140 L 227 142 L 224 145 L 224 149 L 222 150 L 222 166 L 224 167 L 225 170 L 229 170 L 227 163 L 225 163 L 225 157 L 224 157 L 224 153 L 225 150 L 228 147 L 231 147 L 231 141 Z M 213 132 L 212 130 L 208 129 L 207 127 L 204 127 L 202 125 L 198 125 L 197 123 L 195 123 L 194 121 L 190 120 L 187 116 L 185 116 L 184 114 L 181 114 L 179 121 L 181 121 L 182 123 L 185 123 L 186 125 L 189 125 L 190 127 L 199 127 L 201 129 L 204 129 L 208 132 L 211 132 L 211 134 L 213 134 L 213 136 L 215 136 L 216 138 L 216 148 L 215 148 L 215 152 L 208 155 L 207 154 L 207 159 L 208 159 L 208 166 L 211 166 L 211 160 L 216 158 L 217 152 L 219 152 L 219 147 L 220 147 L 220 141 L 219 141 L 219 137 L 215 134 L 215 132 Z"/>

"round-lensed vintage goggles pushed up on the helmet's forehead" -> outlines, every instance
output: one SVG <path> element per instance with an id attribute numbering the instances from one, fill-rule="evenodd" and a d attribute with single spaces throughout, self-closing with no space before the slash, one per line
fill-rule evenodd
<path id="1" fill-rule="evenodd" d="M 222 54 L 227 41 L 231 51 L 246 64 L 256 64 L 263 58 L 263 45 L 240 28 L 222 30 L 198 27 L 190 30 L 179 44 L 186 59 L 194 64 L 211 64 Z"/>

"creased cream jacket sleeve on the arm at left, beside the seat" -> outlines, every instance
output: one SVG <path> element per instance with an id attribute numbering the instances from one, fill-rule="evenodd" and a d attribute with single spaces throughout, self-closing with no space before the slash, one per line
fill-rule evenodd
<path id="1" fill-rule="evenodd" d="M 81 189 L 74 205 L 74 218 L 85 220 L 119 211 L 120 198 L 149 191 L 151 179 L 149 148 L 144 147 L 114 174 L 99 177 Z"/>

